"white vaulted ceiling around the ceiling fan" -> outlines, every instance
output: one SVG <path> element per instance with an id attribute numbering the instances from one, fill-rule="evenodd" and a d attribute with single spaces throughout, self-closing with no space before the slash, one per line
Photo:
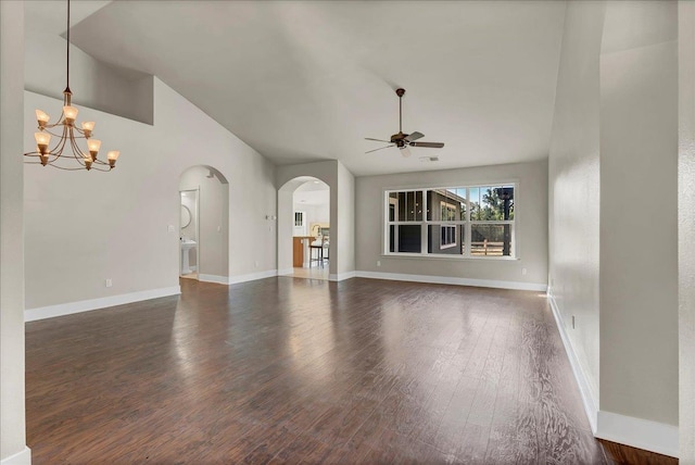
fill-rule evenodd
<path id="1" fill-rule="evenodd" d="M 546 158 L 564 12 L 561 1 L 114 1 L 72 37 L 156 75 L 277 164 L 338 159 L 369 175 Z M 404 133 L 444 149 L 364 153 L 380 147 L 365 137 L 397 131 L 397 87 Z M 440 161 L 420 162 L 429 155 Z"/>

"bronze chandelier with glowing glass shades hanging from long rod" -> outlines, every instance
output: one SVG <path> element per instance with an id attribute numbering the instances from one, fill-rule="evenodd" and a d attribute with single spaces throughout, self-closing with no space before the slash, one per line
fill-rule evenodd
<path id="1" fill-rule="evenodd" d="M 63 111 L 58 118 L 58 123 L 48 124 L 50 116 L 41 111 L 36 111 L 36 120 L 38 122 L 38 133 L 34 134 L 36 139 L 36 151 L 25 153 L 24 156 L 38 158 L 38 161 L 27 161 L 26 163 L 40 163 L 41 165 L 50 165 L 59 169 L 77 171 L 77 169 L 97 169 L 109 172 L 116 166 L 116 160 L 121 152 L 117 150 L 106 154 L 106 161 L 100 160 L 99 149 L 101 140 L 92 139 L 91 133 L 94 128 L 94 122 L 83 122 L 77 127 L 77 112 L 72 106 L 71 100 L 73 92 L 70 90 L 70 0 L 67 0 L 67 83 L 63 90 Z M 58 142 L 53 148 L 49 149 L 51 136 L 58 138 Z M 77 143 L 78 139 L 87 141 L 87 151 L 83 151 Z M 70 149 L 70 150 L 66 150 Z M 67 165 L 67 162 L 77 162 Z"/>

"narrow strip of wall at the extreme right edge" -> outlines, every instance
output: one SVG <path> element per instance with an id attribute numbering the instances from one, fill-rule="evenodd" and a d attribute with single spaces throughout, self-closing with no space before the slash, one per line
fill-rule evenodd
<path id="1" fill-rule="evenodd" d="M 680 463 L 695 464 L 695 2 L 679 12 Z"/>

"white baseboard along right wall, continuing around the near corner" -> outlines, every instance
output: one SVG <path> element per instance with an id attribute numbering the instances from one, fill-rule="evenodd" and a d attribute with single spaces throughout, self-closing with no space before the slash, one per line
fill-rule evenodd
<path id="1" fill-rule="evenodd" d="M 590 388 L 587 377 L 579 363 L 577 353 L 565 330 L 563 316 L 552 289 L 548 289 L 547 297 L 551 309 L 553 309 L 557 329 L 560 332 L 560 338 L 565 345 L 565 351 L 567 352 L 567 357 L 574 374 L 574 379 L 579 385 L 579 391 L 582 397 L 582 402 L 584 403 L 584 411 L 594 436 L 633 448 L 678 457 L 678 427 L 598 410 L 597 399 L 595 399 Z"/>

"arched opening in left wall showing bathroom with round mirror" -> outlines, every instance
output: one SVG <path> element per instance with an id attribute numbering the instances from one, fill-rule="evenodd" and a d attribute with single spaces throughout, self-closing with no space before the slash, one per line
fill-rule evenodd
<path id="1" fill-rule="evenodd" d="M 191 166 L 179 177 L 179 276 L 227 282 L 229 183 L 216 168 Z"/>

